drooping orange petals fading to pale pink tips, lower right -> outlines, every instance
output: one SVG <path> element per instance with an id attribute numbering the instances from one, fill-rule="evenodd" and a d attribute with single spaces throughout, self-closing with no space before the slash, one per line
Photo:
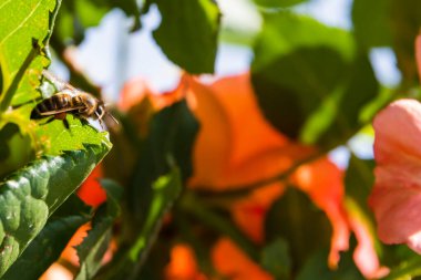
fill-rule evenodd
<path id="1" fill-rule="evenodd" d="M 336 268 L 340 252 L 349 248 L 350 231 L 358 241 L 353 260 L 367 278 L 380 278 L 389 270 L 380 267 L 369 226 L 343 201 L 343 173 L 326 158 L 300 166 L 292 176 L 295 184 L 322 209 L 332 225 L 329 267 Z"/>

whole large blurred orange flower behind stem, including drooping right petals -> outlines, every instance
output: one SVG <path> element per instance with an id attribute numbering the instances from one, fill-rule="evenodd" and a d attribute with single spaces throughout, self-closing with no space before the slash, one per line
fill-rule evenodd
<path id="1" fill-rule="evenodd" d="M 187 97 L 201 123 L 195 151 L 193 188 L 226 190 L 271 178 L 290 168 L 315 149 L 292 143 L 274 129 L 264 118 L 249 82 L 243 74 L 222 79 L 210 85 L 187 77 Z M 355 217 L 348 217 L 343 205 L 343 174 L 321 158 L 300 166 L 290 178 L 307 193 L 329 218 L 333 232 L 329 266 L 336 268 L 340 251 L 348 250 L 350 230 L 360 242 L 355 261 L 369 278 L 387 273 L 380 268 L 368 228 Z M 263 241 L 265 215 L 283 193 L 279 183 L 254 191 L 232 206 L 237 225 L 255 241 Z M 371 239 L 370 239 L 371 240 Z M 372 241 L 372 240 L 371 240 Z"/>

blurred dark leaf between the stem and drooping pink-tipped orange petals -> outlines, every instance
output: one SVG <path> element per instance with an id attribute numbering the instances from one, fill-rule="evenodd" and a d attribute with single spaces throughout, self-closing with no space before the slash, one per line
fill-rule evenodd
<path id="1" fill-rule="evenodd" d="M 265 232 L 268 241 L 283 238 L 288 242 L 292 273 L 311 253 L 330 248 L 331 226 L 326 215 L 292 187 L 271 206 L 266 216 Z"/>

